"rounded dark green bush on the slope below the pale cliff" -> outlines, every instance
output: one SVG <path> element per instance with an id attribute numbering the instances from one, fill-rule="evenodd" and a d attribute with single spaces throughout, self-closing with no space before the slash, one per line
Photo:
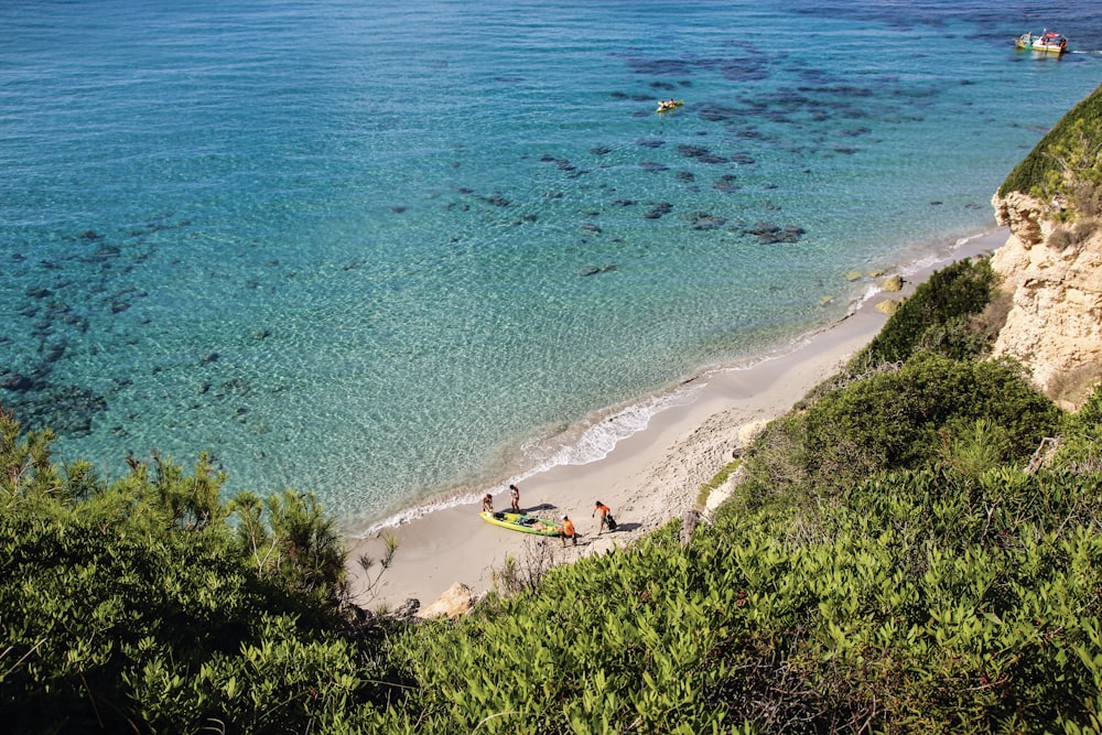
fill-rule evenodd
<path id="1" fill-rule="evenodd" d="M 1012 364 L 920 353 L 775 421 L 747 452 L 744 491 L 833 495 L 879 472 L 937 461 L 977 420 L 1002 434 L 997 460 L 1024 466 L 1060 417 Z"/>

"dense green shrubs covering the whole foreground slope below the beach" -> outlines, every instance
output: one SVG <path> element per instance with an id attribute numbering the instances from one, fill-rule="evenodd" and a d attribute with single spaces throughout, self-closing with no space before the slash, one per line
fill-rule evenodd
<path id="1" fill-rule="evenodd" d="M 934 275 L 672 523 L 458 621 L 347 604 L 309 495 L 204 461 L 114 483 L 0 415 L 13 732 L 1102 733 L 1102 390 L 982 357 L 984 260 Z M 1038 453 L 1042 446 L 1055 451 Z"/>

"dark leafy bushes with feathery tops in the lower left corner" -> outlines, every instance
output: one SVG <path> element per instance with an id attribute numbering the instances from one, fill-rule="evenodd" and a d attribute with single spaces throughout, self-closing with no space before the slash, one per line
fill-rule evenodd
<path id="1" fill-rule="evenodd" d="M 0 411 L 9 732 L 305 732 L 352 716 L 349 692 L 371 710 L 372 649 L 342 635 L 341 549 L 312 498 L 235 528 L 205 458 L 190 475 L 132 462 L 108 486 L 54 465 L 51 440 Z"/>

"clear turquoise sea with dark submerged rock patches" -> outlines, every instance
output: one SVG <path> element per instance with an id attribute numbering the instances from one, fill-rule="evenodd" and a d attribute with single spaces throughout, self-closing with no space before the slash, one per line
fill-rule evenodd
<path id="1" fill-rule="evenodd" d="M 65 457 L 363 528 L 597 456 L 993 227 L 1102 69 L 1088 2 L 378 4 L 0 8 L 0 402 Z"/>

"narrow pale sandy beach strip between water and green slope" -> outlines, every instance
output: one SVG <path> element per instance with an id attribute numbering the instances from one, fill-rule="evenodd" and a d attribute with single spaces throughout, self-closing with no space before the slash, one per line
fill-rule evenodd
<path id="1" fill-rule="evenodd" d="M 412 597 L 423 610 L 456 582 L 486 592 L 506 556 L 523 558 L 532 544 L 549 544 L 557 562 L 570 562 L 629 544 L 680 518 L 694 506 L 701 485 L 732 460 L 741 435 L 747 434 L 744 429 L 785 414 L 868 344 L 887 320 L 875 309 L 878 302 L 908 295 L 933 270 L 988 253 L 1007 237 L 1008 230 L 995 229 L 973 238 L 946 260 L 909 275 L 901 292 L 879 294 L 787 354 L 706 376 L 691 402 L 658 413 L 603 460 L 557 466 L 520 484 L 520 507 L 549 518 L 569 515 L 580 533 L 577 545 L 491 526 L 478 516 L 477 504 L 439 510 L 383 531 L 397 536 L 399 549 L 374 590 L 366 590 L 356 560 L 361 554 L 379 559 L 385 548 L 381 534 L 348 541 L 355 601 L 369 608 L 395 608 Z M 592 517 L 596 500 L 612 508 L 619 523 L 615 532 L 597 536 L 597 520 Z M 495 488 L 494 506 L 509 507 L 506 486 Z"/>

